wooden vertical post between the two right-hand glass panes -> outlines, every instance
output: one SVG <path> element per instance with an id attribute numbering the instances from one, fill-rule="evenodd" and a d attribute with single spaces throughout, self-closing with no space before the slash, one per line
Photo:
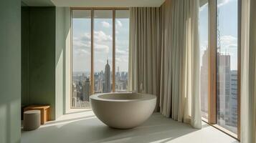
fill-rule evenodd
<path id="1" fill-rule="evenodd" d="M 217 122 L 217 0 L 209 1 L 209 94 L 208 94 L 208 122 L 216 124 Z"/>

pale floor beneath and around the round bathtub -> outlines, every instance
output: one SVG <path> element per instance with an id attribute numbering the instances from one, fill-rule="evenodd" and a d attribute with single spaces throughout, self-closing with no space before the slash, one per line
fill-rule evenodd
<path id="1" fill-rule="evenodd" d="M 176 122 L 173 119 L 163 117 L 161 114 L 153 114 L 141 126 L 133 129 L 113 129 L 100 122 L 98 118 L 91 117 L 95 116 L 62 120 L 54 122 L 52 126 L 39 128 L 33 132 L 23 132 L 22 143 L 166 143 L 176 142 L 177 139 L 184 138 L 189 140 L 190 137 L 196 137 L 198 136 L 196 133 L 201 132 L 199 129 L 192 128 L 189 124 Z M 209 129 L 207 125 L 203 126 L 204 129 Z M 199 135 L 200 138 L 201 134 Z"/>

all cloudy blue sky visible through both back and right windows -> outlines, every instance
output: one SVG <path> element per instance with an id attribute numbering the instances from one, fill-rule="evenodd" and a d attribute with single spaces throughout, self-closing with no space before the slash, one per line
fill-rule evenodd
<path id="1" fill-rule="evenodd" d="M 201 54 L 208 45 L 208 8 L 207 4 L 199 9 L 199 26 L 200 26 L 200 47 Z M 104 12 L 112 16 L 111 11 Z M 118 11 L 117 11 L 118 12 Z M 218 0 L 219 14 L 219 34 L 221 40 L 222 54 L 231 56 L 231 69 L 237 69 L 237 0 Z M 73 71 L 90 71 L 90 11 L 85 11 L 85 16 L 81 19 L 72 21 L 72 69 Z M 95 18 L 94 31 L 94 55 L 95 71 L 105 69 L 107 59 L 112 71 L 112 19 Z M 115 66 L 120 71 L 128 71 L 128 38 L 129 38 L 129 19 L 116 19 L 116 45 L 115 45 Z M 201 59 L 202 60 L 202 59 Z M 118 71 L 118 69 L 115 69 Z"/>

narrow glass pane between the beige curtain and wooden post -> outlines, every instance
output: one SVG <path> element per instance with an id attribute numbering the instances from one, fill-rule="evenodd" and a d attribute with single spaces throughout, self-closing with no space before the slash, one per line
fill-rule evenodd
<path id="1" fill-rule="evenodd" d="M 208 119 L 208 1 L 200 1 L 199 8 L 200 44 L 200 95 L 202 117 Z"/>

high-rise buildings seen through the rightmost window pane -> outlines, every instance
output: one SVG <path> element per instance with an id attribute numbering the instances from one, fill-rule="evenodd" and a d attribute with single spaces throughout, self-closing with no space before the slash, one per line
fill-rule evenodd
<path id="1" fill-rule="evenodd" d="M 237 132 L 237 71 L 230 55 L 217 54 L 217 124 Z"/>

